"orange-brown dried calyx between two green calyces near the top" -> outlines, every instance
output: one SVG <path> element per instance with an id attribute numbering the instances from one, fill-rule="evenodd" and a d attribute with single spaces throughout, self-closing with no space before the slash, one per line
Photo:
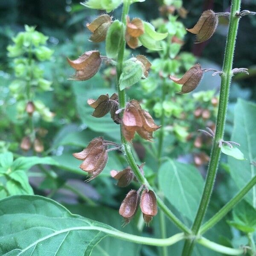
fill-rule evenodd
<path id="1" fill-rule="evenodd" d="M 126 18 L 127 27 L 126 27 L 126 34 L 125 34 L 125 40 L 129 47 L 132 49 L 135 49 L 139 47 L 140 41 L 139 37 L 144 34 L 144 25 L 143 21 L 139 18 L 135 18 L 132 21 L 130 21 L 130 18 L 127 16 Z"/>

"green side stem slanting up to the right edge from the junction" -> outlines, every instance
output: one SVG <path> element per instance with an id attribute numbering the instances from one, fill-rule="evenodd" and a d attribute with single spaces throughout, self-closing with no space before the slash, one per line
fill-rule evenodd
<path id="1" fill-rule="evenodd" d="M 227 204 L 224 205 L 212 218 L 210 218 L 200 228 L 199 233 L 203 234 L 218 221 L 220 221 L 243 197 L 249 190 L 256 184 L 256 176 L 254 176 Z"/>

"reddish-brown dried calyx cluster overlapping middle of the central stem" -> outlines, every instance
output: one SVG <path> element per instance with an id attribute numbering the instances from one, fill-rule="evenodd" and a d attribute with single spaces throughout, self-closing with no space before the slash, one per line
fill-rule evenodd
<path id="1" fill-rule="evenodd" d="M 153 131 L 159 128 L 160 126 L 154 123 L 154 119 L 141 108 L 137 100 L 127 102 L 122 117 L 122 133 L 126 140 L 131 141 L 136 131 L 143 139 L 151 140 Z"/>

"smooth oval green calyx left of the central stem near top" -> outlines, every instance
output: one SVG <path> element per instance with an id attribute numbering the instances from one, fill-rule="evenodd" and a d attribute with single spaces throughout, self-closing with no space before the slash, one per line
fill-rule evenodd
<path id="1" fill-rule="evenodd" d="M 108 28 L 106 36 L 106 54 L 108 58 L 116 58 L 122 43 L 123 33 L 124 26 L 119 20 L 115 20 Z"/>

